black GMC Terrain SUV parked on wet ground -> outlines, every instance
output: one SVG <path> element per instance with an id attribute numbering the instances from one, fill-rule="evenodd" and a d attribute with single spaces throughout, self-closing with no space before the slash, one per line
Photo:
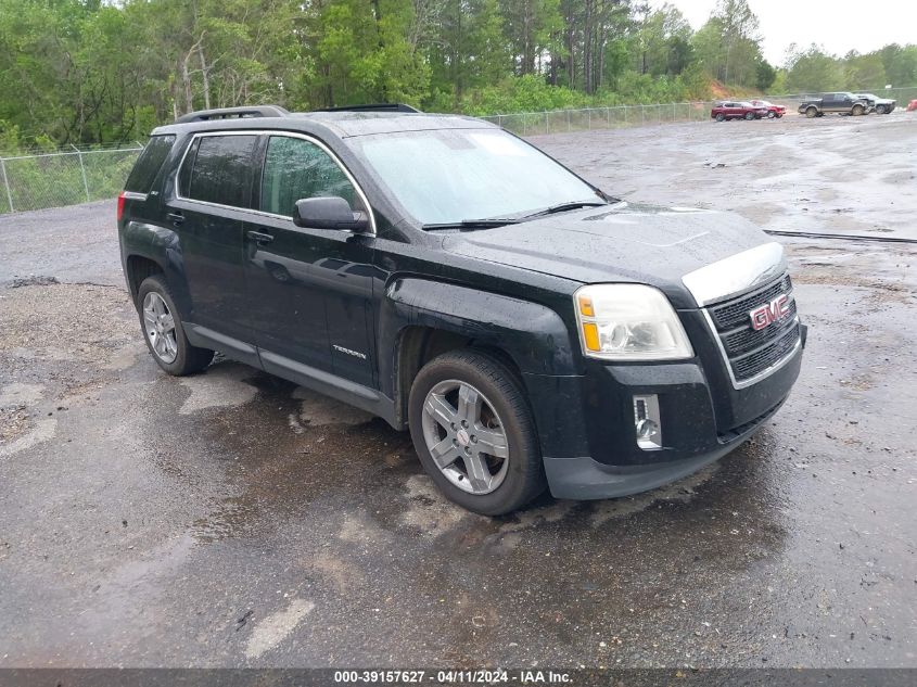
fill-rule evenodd
<path id="1" fill-rule="evenodd" d="M 409 428 L 486 514 L 716 460 L 786 400 L 805 341 L 781 246 L 740 217 L 626 203 L 404 106 L 160 127 L 118 232 L 165 371 L 220 351 Z"/>

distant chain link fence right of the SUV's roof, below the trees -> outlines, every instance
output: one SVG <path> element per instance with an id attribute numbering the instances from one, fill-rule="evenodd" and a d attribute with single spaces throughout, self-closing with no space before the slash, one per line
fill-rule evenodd
<path id="1" fill-rule="evenodd" d="M 904 110 L 910 100 L 917 99 L 917 87 L 881 88 L 864 92 L 873 92 L 879 98 L 895 100 L 897 110 Z M 795 115 L 797 106 L 805 97 L 805 93 L 791 93 L 786 96 L 767 96 L 763 100 L 786 105 L 787 114 Z M 726 100 L 741 101 L 747 99 L 734 98 Z M 535 136 L 538 133 L 616 129 L 629 126 L 671 124 L 674 122 L 705 122 L 710 119 L 711 109 L 723 101 L 724 99 L 653 105 L 614 105 L 609 107 L 583 107 L 578 110 L 549 110 L 545 112 L 498 114 L 481 118 L 520 136 Z"/>

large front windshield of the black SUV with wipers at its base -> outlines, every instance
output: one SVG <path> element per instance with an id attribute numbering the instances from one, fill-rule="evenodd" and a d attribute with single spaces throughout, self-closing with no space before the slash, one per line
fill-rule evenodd
<path id="1" fill-rule="evenodd" d="M 345 139 L 420 224 L 520 217 L 603 199 L 550 157 L 499 129 L 437 129 Z"/>

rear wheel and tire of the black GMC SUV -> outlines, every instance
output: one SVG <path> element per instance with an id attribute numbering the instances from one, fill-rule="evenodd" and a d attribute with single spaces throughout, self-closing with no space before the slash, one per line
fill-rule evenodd
<path id="1" fill-rule="evenodd" d="M 148 277 L 140 284 L 137 311 L 147 347 L 163 370 L 175 377 L 183 377 L 200 372 L 211 364 L 213 351 L 188 343 L 175 298 L 161 275 Z"/>

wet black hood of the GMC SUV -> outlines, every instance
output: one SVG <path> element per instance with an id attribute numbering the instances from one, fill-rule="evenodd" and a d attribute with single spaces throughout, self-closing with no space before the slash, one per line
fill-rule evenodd
<path id="1" fill-rule="evenodd" d="M 583 283 L 636 282 L 676 307 L 697 307 L 682 277 L 769 243 L 730 213 L 617 203 L 543 219 L 448 234 L 445 250 Z"/>

